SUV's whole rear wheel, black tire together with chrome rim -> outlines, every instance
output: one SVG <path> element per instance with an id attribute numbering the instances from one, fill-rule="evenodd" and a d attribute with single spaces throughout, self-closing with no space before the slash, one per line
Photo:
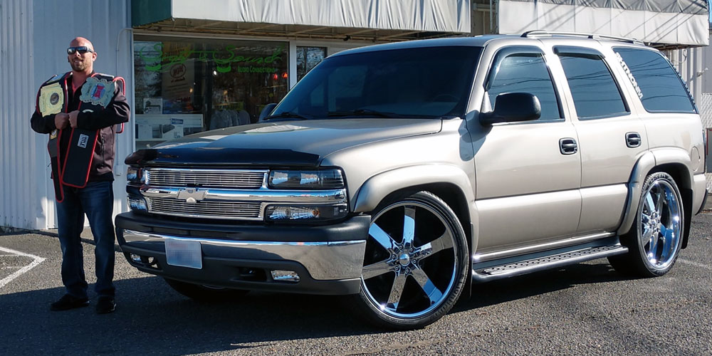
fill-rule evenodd
<path id="1" fill-rule="evenodd" d="M 684 210 L 673 177 L 657 172 L 646 177 L 636 219 L 621 243 L 628 253 L 609 257 L 616 271 L 640 277 L 668 273 L 682 246 Z"/>

